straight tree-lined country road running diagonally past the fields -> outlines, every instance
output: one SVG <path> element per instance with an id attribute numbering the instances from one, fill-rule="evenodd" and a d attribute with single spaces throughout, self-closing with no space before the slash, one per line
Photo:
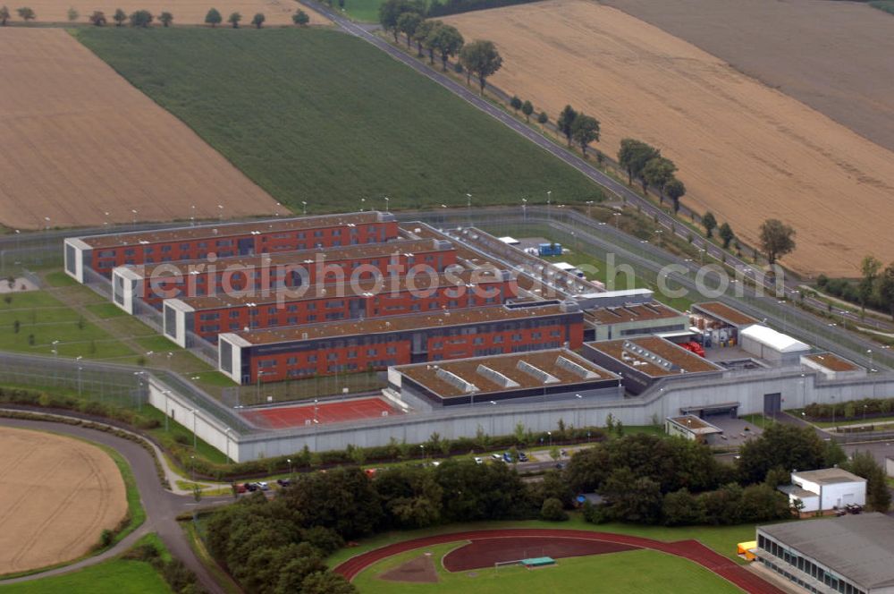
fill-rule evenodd
<path id="1" fill-rule="evenodd" d="M 370 26 L 368 23 L 361 24 L 350 21 L 350 19 L 335 12 L 332 8 L 329 8 L 324 4 L 318 4 L 311 0 L 299 0 L 299 4 L 305 4 L 316 12 L 325 14 L 327 18 L 332 20 L 345 32 L 353 35 L 354 37 L 367 41 L 367 43 L 382 50 L 387 55 L 390 55 L 393 59 L 401 62 L 401 64 L 409 66 L 409 68 L 412 68 L 414 71 L 425 76 L 430 81 L 434 81 L 435 83 L 441 85 L 444 89 L 451 91 L 451 93 L 453 93 L 457 97 L 462 98 L 472 106 L 477 107 L 477 109 L 479 109 L 480 111 L 493 117 L 493 119 L 503 123 L 513 132 L 519 133 L 527 140 L 536 144 L 539 148 L 543 148 L 553 157 L 559 158 L 563 162 L 574 167 L 578 170 L 578 172 L 586 175 L 587 178 L 599 184 L 604 189 L 610 191 L 611 193 L 614 193 L 620 198 L 625 199 L 628 204 L 641 208 L 642 211 L 649 216 L 656 217 L 656 225 L 659 225 L 663 228 L 662 233 L 671 233 L 671 230 L 673 230 L 672 233 L 675 233 L 677 236 L 679 236 L 679 238 L 688 240 L 688 228 L 685 225 L 680 224 L 679 221 L 675 221 L 674 218 L 664 212 L 662 208 L 656 207 L 649 200 L 644 199 L 635 191 L 630 190 L 624 183 L 618 182 L 610 175 L 604 174 L 595 166 L 590 165 L 583 158 L 578 157 L 577 154 L 552 142 L 552 140 L 546 138 L 542 133 L 532 129 L 526 123 L 522 122 L 513 115 L 510 115 L 502 108 L 494 106 L 487 99 L 478 96 L 474 91 L 466 88 L 459 82 L 454 81 L 453 79 L 451 79 L 451 77 L 442 72 L 438 72 L 433 67 L 426 64 L 424 61 L 417 60 L 412 55 L 404 52 L 401 47 L 395 47 L 385 39 L 378 37 L 377 35 L 375 35 L 375 30 L 378 28 L 377 26 Z M 681 213 L 683 214 L 685 214 L 686 212 L 687 208 L 683 208 L 681 210 Z M 756 275 L 755 270 L 751 268 L 752 265 L 746 263 L 742 259 L 739 259 L 730 251 L 723 250 L 720 246 L 714 245 L 712 242 L 708 242 L 703 237 L 696 235 L 693 236 L 692 244 L 696 246 L 697 249 L 703 250 L 704 253 L 718 261 L 721 261 L 722 259 L 732 267 L 741 267 L 743 270 L 745 270 L 746 276 L 748 276 L 751 280 L 762 282 L 767 288 L 773 288 L 772 282 L 769 279 L 763 279 L 759 275 Z M 799 298 L 800 293 L 798 287 L 800 284 L 801 283 L 798 282 L 797 279 L 787 279 L 785 281 L 784 289 L 785 298 Z M 825 310 L 827 307 L 824 301 L 816 300 L 809 296 L 805 296 L 804 301 L 806 304 L 809 304 L 819 310 Z M 890 323 L 884 320 L 875 318 L 861 319 L 860 316 L 856 313 L 840 309 L 837 309 L 835 313 L 840 318 L 845 318 L 849 322 L 853 322 L 855 324 L 860 323 L 864 327 L 870 327 L 878 330 L 888 330 L 891 328 Z"/>

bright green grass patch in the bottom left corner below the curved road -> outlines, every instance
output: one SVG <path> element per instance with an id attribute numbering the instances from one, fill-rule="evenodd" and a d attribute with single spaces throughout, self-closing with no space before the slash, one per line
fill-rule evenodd
<path id="1" fill-rule="evenodd" d="M 137 544 L 151 542 L 161 551 L 162 558 L 171 555 L 156 534 L 147 534 Z M 78 572 L 57 575 L 34 581 L 0 586 L 3 594 L 167 594 L 171 592 L 156 569 L 143 561 L 112 559 Z"/>

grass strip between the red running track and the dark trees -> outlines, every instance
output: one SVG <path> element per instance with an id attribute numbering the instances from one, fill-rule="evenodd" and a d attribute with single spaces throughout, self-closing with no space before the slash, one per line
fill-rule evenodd
<path id="1" fill-rule="evenodd" d="M 342 563 L 352 556 L 365 553 L 378 547 L 393 542 L 401 542 L 403 540 L 417 539 L 432 534 L 443 534 L 444 532 L 459 532 L 462 530 L 488 530 L 497 528 L 561 528 L 570 530 L 592 530 L 596 532 L 611 532 L 615 534 L 631 534 L 633 536 L 641 536 L 646 539 L 663 540 L 666 542 L 674 542 L 676 540 L 696 539 L 705 547 L 712 548 L 722 556 L 729 557 L 737 563 L 743 563 L 736 556 L 736 544 L 745 540 L 755 539 L 755 525 L 741 524 L 738 526 L 682 526 L 679 528 L 668 528 L 666 526 L 642 526 L 638 524 L 591 524 L 584 522 L 580 513 L 570 513 L 568 522 L 542 522 L 540 520 L 528 520 L 525 522 L 474 522 L 467 524 L 451 524 L 449 526 L 438 526 L 436 528 L 426 530 L 407 530 L 383 532 L 370 539 L 362 539 L 359 541 L 358 547 L 342 548 L 336 551 L 332 556 L 326 559 L 326 564 L 333 567 Z"/>

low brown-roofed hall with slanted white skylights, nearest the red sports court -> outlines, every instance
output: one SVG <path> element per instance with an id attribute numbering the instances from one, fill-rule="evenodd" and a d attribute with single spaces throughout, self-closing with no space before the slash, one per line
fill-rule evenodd
<path id="1" fill-rule="evenodd" d="M 620 399 L 620 378 L 568 349 L 388 369 L 388 389 L 419 408 L 498 402 Z"/>

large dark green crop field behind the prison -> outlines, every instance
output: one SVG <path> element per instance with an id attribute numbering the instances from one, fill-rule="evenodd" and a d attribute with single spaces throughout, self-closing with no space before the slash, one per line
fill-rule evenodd
<path id="1" fill-rule="evenodd" d="M 349 0 L 350 1 L 350 0 Z M 312 213 L 572 203 L 600 188 L 364 41 L 324 29 L 75 35 L 275 199 Z M 444 150 L 451 147 L 451 150 Z"/>

